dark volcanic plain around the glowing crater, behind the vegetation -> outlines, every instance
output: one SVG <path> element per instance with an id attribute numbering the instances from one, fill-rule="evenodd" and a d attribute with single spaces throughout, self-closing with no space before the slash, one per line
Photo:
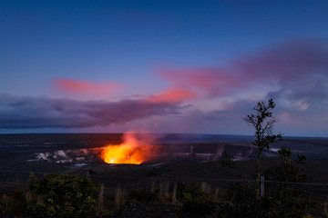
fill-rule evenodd
<path id="1" fill-rule="evenodd" d="M 241 171 L 254 169 L 257 150 L 251 136 L 212 134 L 154 134 L 155 145 L 168 154 L 149 163 L 108 164 L 93 148 L 120 144 L 122 134 L 0 134 L 0 182 L 26 183 L 29 172 L 78 173 L 106 187 L 143 188 L 154 183 L 206 183 L 208 189 L 224 187 L 234 180 L 243 180 L 241 172 L 220 165 L 220 156 L 238 157 Z M 290 147 L 295 154 L 304 154 L 309 183 L 328 183 L 328 139 L 285 137 L 265 154 L 265 165 L 276 163 L 276 149 Z M 192 147 L 192 148 L 191 148 Z M 191 152 L 193 154 L 191 155 Z M 71 160 L 67 162 L 67 160 Z M 313 192 L 328 198 L 328 185 L 311 185 Z"/>

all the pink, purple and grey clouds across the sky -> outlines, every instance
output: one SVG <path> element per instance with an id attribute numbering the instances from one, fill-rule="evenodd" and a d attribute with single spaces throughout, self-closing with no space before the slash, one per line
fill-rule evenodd
<path id="1" fill-rule="evenodd" d="M 157 132 L 243 134 L 247 127 L 241 117 L 251 113 L 254 101 L 272 97 L 282 132 L 328 136 L 328 48 L 320 42 L 285 43 L 224 66 L 160 67 L 157 74 L 170 88 L 137 100 L 2 94 L 0 128 L 83 128 L 143 120 L 152 129 L 155 122 L 149 118 L 156 116 Z M 78 94 L 104 94 L 119 86 L 68 79 L 56 80 L 56 85 Z M 218 108 L 201 109 L 206 101 Z"/>

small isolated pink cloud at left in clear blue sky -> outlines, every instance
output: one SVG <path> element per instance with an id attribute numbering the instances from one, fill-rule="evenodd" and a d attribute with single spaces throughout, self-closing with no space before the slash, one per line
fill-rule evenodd
<path id="1" fill-rule="evenodd" d="M 69 94 L 111 94 L 121 87 L 115 83 L 94 83 L 83 80 L 58 78 L 54 80 L 56 90 Z"/>

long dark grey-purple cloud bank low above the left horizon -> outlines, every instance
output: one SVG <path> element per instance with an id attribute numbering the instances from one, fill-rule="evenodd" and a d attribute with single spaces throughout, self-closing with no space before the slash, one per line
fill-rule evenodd
<path id="1" fill-rule="evenodd" d="M 0 95 L 0 128 L 83 128 L 179 114 L 180 106 L 145 100 L 77 101 Z"/>

